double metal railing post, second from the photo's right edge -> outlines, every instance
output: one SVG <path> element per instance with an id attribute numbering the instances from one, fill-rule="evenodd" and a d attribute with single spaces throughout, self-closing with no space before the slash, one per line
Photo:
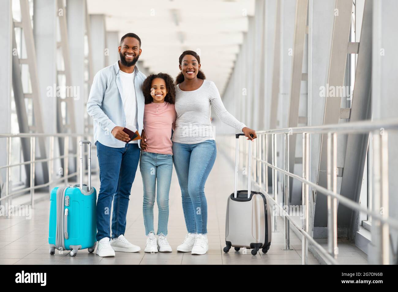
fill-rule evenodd
<path id="1" fill-rule="evenodd" d="M 328 133 L 327 165 L 328 190 L 337 192 L 337 134 Z M 328 249 L 337 259 L 337 199 L 328 195 Z"/>

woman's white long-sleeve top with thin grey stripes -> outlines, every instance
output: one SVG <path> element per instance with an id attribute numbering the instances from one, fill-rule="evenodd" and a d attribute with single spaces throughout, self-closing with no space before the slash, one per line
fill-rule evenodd
<path id="1" fill-rule="evenodd" d="M 206 140 L 215 140 L 210 120 L 211 107 L 225 124 L 240 131 L 246 127 L 225 109 L 213 81 L 204 80 L 201 87 L 193 91 L 182 91 L 176 85 L 177 119 L 172 141 L 196 144 Z"/>

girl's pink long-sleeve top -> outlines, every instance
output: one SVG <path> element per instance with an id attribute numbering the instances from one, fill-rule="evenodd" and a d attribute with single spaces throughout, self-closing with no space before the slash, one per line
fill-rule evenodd
<path id="1" fill-rule="evenodd" d="M 144 130 L 147 152 L 173 154 L 172 129 L 175 128 L 176 109 L 167 101 L 151 102 L 144 108 Z"/>

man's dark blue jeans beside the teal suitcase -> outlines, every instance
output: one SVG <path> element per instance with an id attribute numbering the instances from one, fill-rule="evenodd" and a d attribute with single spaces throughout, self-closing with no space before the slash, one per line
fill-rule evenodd
<path id="1" fill-rule="evenodd" d="M 127 207 L 131 186 L 140 159 L 137 143 L 126 143 L 125 147 L 114 148 L 96 142 L 100 164 L 100 193 L 97 200 L 97 241 L 104 237 L 117 238 L 126 230 Z M 111 207 L 112 237 L 110 228 Z"/>

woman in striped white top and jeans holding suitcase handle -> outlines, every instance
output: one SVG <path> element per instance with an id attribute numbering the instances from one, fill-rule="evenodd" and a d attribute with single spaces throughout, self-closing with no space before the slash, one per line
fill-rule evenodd
<path id="1" fill-rule="evenodd" d="M 182 208 L 188 234 L 177 251 L 205 254 L 207 240 L 207 201 L 205 183 L 216 159 L 216 143 L 211 126 L 211 107 L 219 119 L 240 130 L 253 140 L 256 132 L 234 118 L 222 104 L 219 91 L 212 81 L 205 80 L 200 58 L 193 51 L 179 56 L 176 78 L 176 129 L 173 161 L 182 195 Z"/>

